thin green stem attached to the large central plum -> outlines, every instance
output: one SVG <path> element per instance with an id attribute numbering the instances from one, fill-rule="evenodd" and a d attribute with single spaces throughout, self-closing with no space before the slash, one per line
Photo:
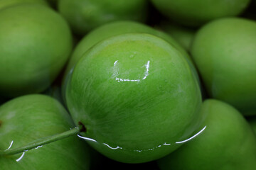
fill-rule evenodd
<path id="1" fill-rule="evenodd" d="M 49 144 L 51 142 L 62 140 L 66 137 L 70 137 L 70 136 L 73 136 L 73 135 L 78 135 L 79 132 L 82 132 L 83 128 L 84 128 L 83 125 L 79 125 L 78 127 L 75 127 L 73 129 L 70 129 L 68 131 L 65 131 L 65 132 L 62 132 L 62 133 L 59 133 L 59 134 L 56 134 L 56 135 L 51 135 L 51 136 L 48 136 L 48 137 L 42 137 L 42 138 L 40 138 L 38 140 L 35 140 L 35 141 L 33 141 L 33 142 L 29 143 L 28 145 L 25 145 L 23 147 L 18 147 L 18 148 L 14 148 L 14 149 L 6 149 L 4 151 L 0 150 L 0 156 L 26 152 L 30 149 L 34 149 L 36 147 Z"/>

